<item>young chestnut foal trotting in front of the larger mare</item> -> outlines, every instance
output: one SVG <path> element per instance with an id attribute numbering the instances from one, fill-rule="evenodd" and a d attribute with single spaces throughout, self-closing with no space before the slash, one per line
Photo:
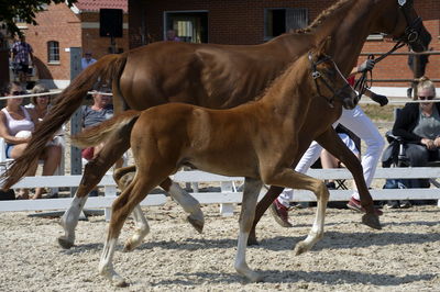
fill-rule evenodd
<path id="1" fill-rule="evenodd" d="M 143 112 L 128 111 L 73 138 L 75 145 L 89 147 L 108 139 L 120 127 L 132 127 L 136 172 L 112 205 L 99 263 L 102 276 L 118 287 L 127 285 L 112 265 L 124 221 L 154 187 L 188 165 L 223 176 L 245 177 L 234 266 L 250 281 L 261 279 L 248 267 L 245 250 L 263 183 L 306 189 L 317 196 L 314 225 L 307 238 L 296 246 L 296 255 L 309 250 L 323 236 L 329 191 L 323 181 L 294 171 L 292 164 L 300 157 L 299 149 L 331 127 L 342 106 L 353 109 L 358 103 L 358 93 L 324 55 L 329 40 L 294 61 L 257 101 L 229 110 L 169 103 Z M 315 106 L 323 110 L 320 126 L 305 139 L 305 125 L 316 119 L 309 111 Z M 143 236 L 142 232 L 133 236 L 125 249 L 140 245 Z"/>

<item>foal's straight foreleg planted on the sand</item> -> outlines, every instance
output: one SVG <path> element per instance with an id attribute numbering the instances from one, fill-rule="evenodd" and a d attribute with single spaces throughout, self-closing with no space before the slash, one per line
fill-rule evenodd
<path id="1" fill-rule="evenodd" d="M 248 238 L 254 222 L 256 201 L 262 186 L 263 183 L 261 180 L 246 178 L 244 181 L 243 202 L 240 213 L 240 234 L 234 265 L 235 270 L 252 282 L 262 279 L 261 276 L 251 270 L 246 263 Z"/>

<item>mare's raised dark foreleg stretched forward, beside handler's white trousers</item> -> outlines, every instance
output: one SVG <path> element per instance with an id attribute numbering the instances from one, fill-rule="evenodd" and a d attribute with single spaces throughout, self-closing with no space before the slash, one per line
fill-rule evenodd
<path id="1" fill-rule="evenodd" d="M 370 194 L 369 188 L 365 183 L 365 178 L 362 170 L 361 161 L 358 157 L 346 147 L 346 145 L 339 138 L 337 132 L 331 127 L 316 139 L 322 147 L 324 147 L 331 155 L 337 157 L 353 175 L 356 183 L 358 191 L 361 198 L 361 204 L 365 209 L 366 214 L 362 216 L 362 223 L 375 228 L 381 229 L 381 222 L 374 209 L 373 198 Z"/>

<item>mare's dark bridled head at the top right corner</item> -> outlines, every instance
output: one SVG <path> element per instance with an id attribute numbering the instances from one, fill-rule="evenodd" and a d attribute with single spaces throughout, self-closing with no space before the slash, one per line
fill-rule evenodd
<path id="1" fill-rule="evenodd" d="M 376 2 L 375 13 L 381 14 L 375 25 L 377 32 L 387 33 L 395 41 L 407 44 L 414 52 L 428 49 L 432 37 L 414 9 L 413 0 Z"/>

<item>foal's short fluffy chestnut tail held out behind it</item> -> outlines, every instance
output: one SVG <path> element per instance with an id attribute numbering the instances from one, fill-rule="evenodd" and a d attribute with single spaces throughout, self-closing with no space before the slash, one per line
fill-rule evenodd
<path id="1" fill-rule="evenodd" d="M 122 112 L 73 136 L 72 144 L 80 148 L 86 148 L 107 141 L 114 132 L 120 131 L 122 127 L 125 127 L 124 131 L 131 132 L 134 122 L 138 121 L 141 113 L 141 111 L 133 110 Z"/>

